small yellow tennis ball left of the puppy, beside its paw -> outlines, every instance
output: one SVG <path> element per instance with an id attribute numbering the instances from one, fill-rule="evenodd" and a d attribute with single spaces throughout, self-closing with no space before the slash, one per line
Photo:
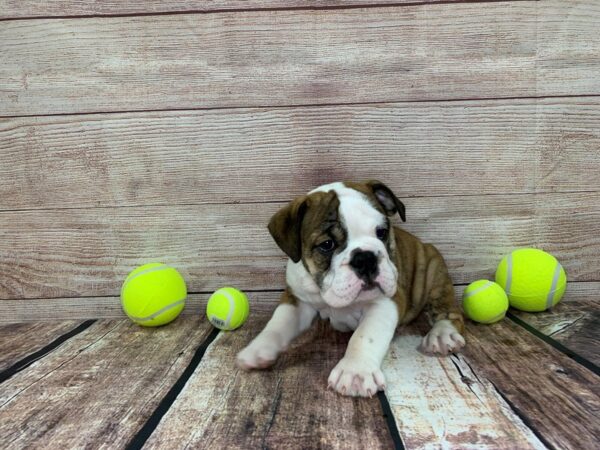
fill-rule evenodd
<path id="1" fill-rule="evenodd" d="M 208 320 L 221 330 L 230 331 L 242 326 L 249 313 L 248 297 L 232 287 L 216 291 L 206 305 Z"/>

